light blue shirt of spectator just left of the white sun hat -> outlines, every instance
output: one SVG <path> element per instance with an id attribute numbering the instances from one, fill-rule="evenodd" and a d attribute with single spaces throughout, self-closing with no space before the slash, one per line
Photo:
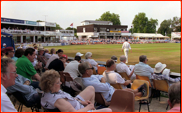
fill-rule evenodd
<path id="1" fill-rule="evenodd" d="M 151 79 L 154 69 L 152 69 L 148 64 L 139 62 L 135 65 L 134 73 L 139 76 L 147 76 L 149 79 Z"/>

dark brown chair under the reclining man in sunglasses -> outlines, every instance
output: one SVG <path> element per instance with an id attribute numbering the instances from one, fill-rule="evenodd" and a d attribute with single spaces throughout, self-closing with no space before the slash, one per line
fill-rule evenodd
<path id="1" fill-rule="evenodd" d="M 95 92 L 95 105 L 97 103 L 106 107 L 110 105 L 110 102 L 107 102 L 101 93 Z"/>

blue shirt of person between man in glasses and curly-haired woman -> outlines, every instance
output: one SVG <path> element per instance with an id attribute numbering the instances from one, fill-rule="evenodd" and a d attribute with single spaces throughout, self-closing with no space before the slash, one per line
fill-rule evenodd
<path id="1" fill-rule="evenodd" d="M 37 91 L 33 88 L 33 86 L 24 85 L 25 81 L 30 81 L 28 78 L 25 78 L 21 75 L 18 75 L 15 79 L 15 85 L 7 88 L 8 93 L 13 93 L 16 91 L 22 92 L 25 94 L 25 98 L 30 100 L 33 94 L 37 93 Z"/>

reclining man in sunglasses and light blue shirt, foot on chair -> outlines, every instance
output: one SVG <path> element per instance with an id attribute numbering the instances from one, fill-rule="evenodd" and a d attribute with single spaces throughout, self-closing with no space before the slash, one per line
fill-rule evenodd
<path id="1" fill-rule="evenodd" d="M 103 75 L 93 75 L 93 67 L 89 62 L 79 64 L 78 70 L 82 74 L 82 82 L 85 87 L 93 86 L 95 88 L 95 92 L 101 92 L 106 101 L 111 101 L 115 89 L 110 85 L 110 83 L 106 82 Z M 135 93 L 135 96 L 146 96 L 146 84 L 141 85 L 133 92 Z"/>

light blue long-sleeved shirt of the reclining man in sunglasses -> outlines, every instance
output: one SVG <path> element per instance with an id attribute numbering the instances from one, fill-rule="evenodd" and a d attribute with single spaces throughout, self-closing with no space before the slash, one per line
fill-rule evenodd
<path id="1" fill-rule="evenodd" d="M 95 92 L 100 92 L 106 99 L 106 101 L 111 101 L 112 95 L 115 89 L 109 83 L 101 83 L 101 78 L 104 77 L 103 75 L 92 75 L 91 77 L 82 78 L 83 85 L 93 86 L 95 88 Z"/>

